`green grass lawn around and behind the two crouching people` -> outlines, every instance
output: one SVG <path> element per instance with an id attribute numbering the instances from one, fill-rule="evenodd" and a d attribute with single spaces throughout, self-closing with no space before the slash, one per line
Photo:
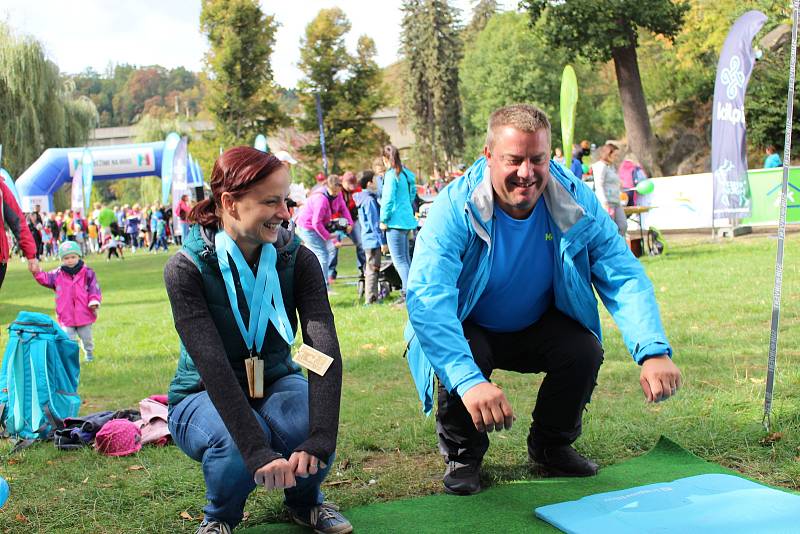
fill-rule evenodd
<path id="1" fill-rule="evenodd" d="M 776 241 L 765 235 L 719 243 L 700 238 L 670 242 L 670 254 L 645 258 L 656 288 L 675 361 L 685 386 L 666 403 L 647 405 L 632 363 L 608 314 L 605 363 L 584 418 L 578 449 L 603 466 L 650 449 L 664 434 L 693 453 L 771 484 L 800 489 L 800 245 L 786 246 L 783 310 L 773 430 L 762 444 Z M 174 249 L 173 249 L 174 250 Z M 165 393 L 178 355 L 163 287 L 166 255 L 128 255 L 124 262 L 89 258 L 104 302 L 95 327 L 95 362 L 82 369 L 81 413 L 133 408 Z M 352 275 L 352 248 L 340 265 Z M 53 268 L 55 264 L 45 264 Z M 337 461 L 324 486 L 345 510 L 381 500 L 441 492 L 443 463 L 433 418 L 426 419 L 402 358 L 405 311 L 364 308 L 353 280 L 332 297 L 344 356 L 344 388 Z M 38 286 L 15 262 L 0 290 L 0 347 L 5 326 L 20 310 L 54 313 L 52 291 Z M 528 413 L 540 381 L 498 372 L 518 414 L 509 432 L 492 434 L 485 482 L 532 478 L 526 466 Z M 146 446 L 125 458 L 91 449 L 60 452 L 43 444 L 9 457 L 0 442 L 0 474 L 11 499 L 0 511 L 5 532 L 192 532 L 202 515 L 199 464 L 176 447 Z M 282 495 L 257 490 L 247 526 L 285 521 Z M 422 521 L 422 519 L 421 519 Z"/>

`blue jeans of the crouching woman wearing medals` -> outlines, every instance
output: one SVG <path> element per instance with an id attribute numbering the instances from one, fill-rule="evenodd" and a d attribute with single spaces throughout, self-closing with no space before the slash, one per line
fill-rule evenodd
<path id="1" fill-rule="evenodd" d="M 264 399 L 251 405 L 270 448 L 288 460 L 295 447 L 308 437 L 308 382 L 305 377 L 292 374 L 277 380 L 266 389 Z M 174 406 L 169 414 L 169 431 L 183 452 L 203 464 L 208 500 L 203 508 L 205 519 L 236 526 L 242 520 L 247 496 L 256 483 L 208 393 L 189 395 Z M 320 460 L 327 464 L 325 469 L 307 478 L 297 477 L 297 485 L 284 490 L 286 506 L 303 510 L 322 504 L 320 485 L 330 470 L 333 457 Z"/>

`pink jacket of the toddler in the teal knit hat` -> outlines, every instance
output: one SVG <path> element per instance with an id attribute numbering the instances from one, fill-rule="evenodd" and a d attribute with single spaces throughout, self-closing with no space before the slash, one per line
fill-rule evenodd
<path id="1" fill-rule="evenodd" d="M 97 276 L 89 267 L 84 267 L 71 276 L 61 267 L 50 272 L 34 275 L 44 287 L 56 291 L 56 316 L 64 326 L 86 326 L 97 320 L 97 314 L 89 307 L 90 303 L 102 301 Z"/>

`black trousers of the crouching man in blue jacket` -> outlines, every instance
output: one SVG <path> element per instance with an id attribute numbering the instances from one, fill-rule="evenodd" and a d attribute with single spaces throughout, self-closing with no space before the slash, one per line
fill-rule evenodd
<path id="1" fill-rule="evenodd" d="M 462 326 L 475 363 L 487 379 L 494 369 L 546 373 L 533 410 L 529 450 L 578 439 L 583 409 L 603 363 L 603 348 L 594 334 L 555 307 L 519 332 L 490 332 L 469 320 Z M 475 428 L 461 397 L 455 391 L 448 393 L 441 383 L 436 429 L 446 461 L 480 462 L 489 448 L 489 437 Z"/>

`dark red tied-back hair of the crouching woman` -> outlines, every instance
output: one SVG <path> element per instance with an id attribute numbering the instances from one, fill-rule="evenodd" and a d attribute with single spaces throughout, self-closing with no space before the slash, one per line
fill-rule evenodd
<path id="1" fill-rule="evenodd" d="M 249 146 L 229 148 L 214 162 L 211 197 L 201 200 L 192 208 L 189 221 L 203 226 L 219 226 L 222 193 L 241 198 L 282 165 L 281 160 L 272 154 Z"/>

